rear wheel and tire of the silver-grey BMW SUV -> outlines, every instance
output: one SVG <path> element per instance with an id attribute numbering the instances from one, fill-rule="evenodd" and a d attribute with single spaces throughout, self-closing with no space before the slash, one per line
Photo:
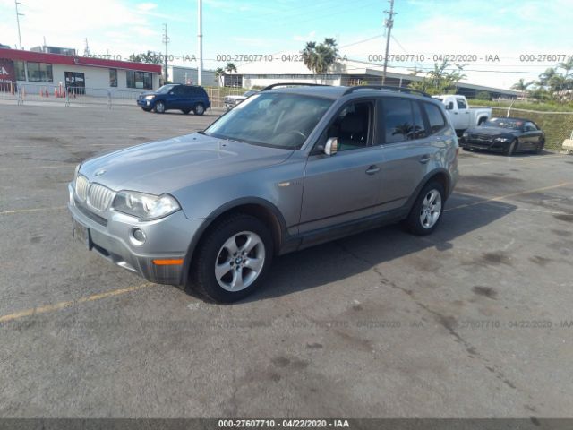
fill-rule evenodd
<path id="1" fill-rule="evenodd" d="M 406 227 L 415 236 L 428 236 L 438 227 L 445 202 L 443 185 L 437 181 L 426 184 L 415 199 L 406 218 Z"/>

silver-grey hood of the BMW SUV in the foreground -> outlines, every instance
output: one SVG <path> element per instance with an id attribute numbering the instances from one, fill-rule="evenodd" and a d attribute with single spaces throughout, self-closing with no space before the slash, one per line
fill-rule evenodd
<path id="1" fill-rule="evenodd" d="M 216 177 L 281 163 L 293 151 L 192 133 L 88 159 L 80 173 L 114 191 L 175 194 Z"/>

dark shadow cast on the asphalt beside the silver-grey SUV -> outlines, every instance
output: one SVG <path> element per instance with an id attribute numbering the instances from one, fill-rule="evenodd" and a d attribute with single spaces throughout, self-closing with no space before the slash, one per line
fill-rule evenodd
<path id="1" fill-rule="evenodd" d="M 396 261 L 427 248 L 439 252 L 452 249 L 454 239 L 471 234 L 516 209 L 507 202 L 485 202 L 480 197 L 454 193 L 446 203 L 440 226 L 431 236 L 413 236 L 395 224 L 276 257 L 264 285 L 241 302 L 286 296 L 345 280 L 382 262 Z"/>

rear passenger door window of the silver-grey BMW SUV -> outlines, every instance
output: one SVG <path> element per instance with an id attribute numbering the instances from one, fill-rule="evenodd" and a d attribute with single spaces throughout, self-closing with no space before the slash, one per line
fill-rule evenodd
<path id="1" fill-rule="evenodd" d="M 425 137 L 420 107 L 409 99 L 384 99 L 381 125 L 386 143 L 412 141 Z"/>

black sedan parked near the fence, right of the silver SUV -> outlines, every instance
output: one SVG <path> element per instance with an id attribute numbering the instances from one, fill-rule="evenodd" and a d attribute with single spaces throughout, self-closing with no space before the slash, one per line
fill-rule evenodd
<path id="1" fill-rule="evenodd" d="M 545 133 L 525 118 L 492 118 L 468 128 L 459 141 L 464 150 L 495 150 L 506 155 L 543 150 Z"/>

